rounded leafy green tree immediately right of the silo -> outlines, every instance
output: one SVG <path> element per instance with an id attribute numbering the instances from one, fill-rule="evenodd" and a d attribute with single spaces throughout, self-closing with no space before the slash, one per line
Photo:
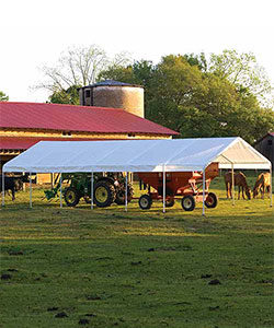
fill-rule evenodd
<path id="1" fill-rule="evenodd" d="M 183 56 L 165 56 L 157 65 L 148 102 L 149 119 L 181 132 L 185 110 L 203 93 L 203 73 Z"/>

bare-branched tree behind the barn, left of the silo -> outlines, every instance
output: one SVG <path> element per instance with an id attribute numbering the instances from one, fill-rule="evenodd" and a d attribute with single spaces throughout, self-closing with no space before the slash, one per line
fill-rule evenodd
<path id="1" fill-rule="evenodd" d="M 129 62 L 128 55 L 121 52 L 109 58 L 100 47 L 73 47 L 62 52 L 55 66 L 44 66 L 42 71 L 45 82 L 36 85 L 36 89 L 50 91 L 49 101 L 75 102 L 75 90 L 78 86 L 89 85 L 96 81 L 99 73 L 110 66 L 122 66 Z"/>

